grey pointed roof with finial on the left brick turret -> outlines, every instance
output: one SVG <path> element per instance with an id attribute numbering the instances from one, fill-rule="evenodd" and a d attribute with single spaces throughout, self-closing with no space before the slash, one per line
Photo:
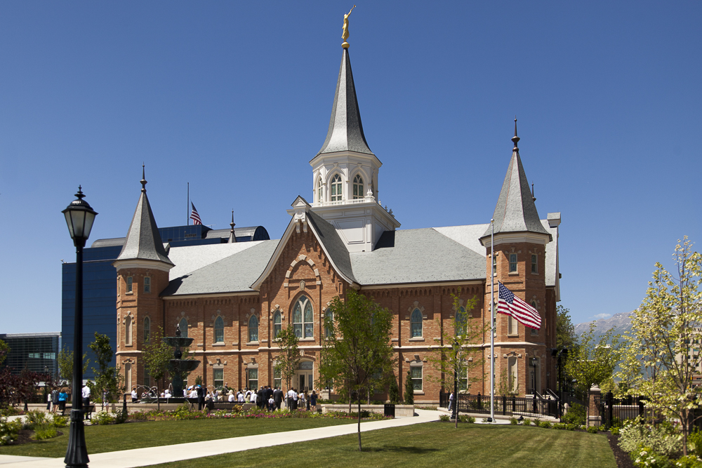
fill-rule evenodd
<path id="1" fill-rule="evenodd" d="M 141 175 L 141 195 L 137 203 L 129 231 L 122 251 L 117 256 L 117 260 L 154 260 L 173 266 L 173 262 L 168 258 L 164 243 L 161 241 L 159 227 L 154 220 L 151 211 L 149 197 L 146 196 L 146 179 L 144 178 L 144 166 Z"/>

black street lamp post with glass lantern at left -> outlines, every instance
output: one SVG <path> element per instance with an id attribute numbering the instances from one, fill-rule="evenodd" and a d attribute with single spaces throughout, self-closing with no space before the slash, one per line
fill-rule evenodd
<path id="1" fill-rule="evenodd" d="M 68 435 L 68 448 L 63 460 L 66 468 L 87 468 L 88 449 L 86 448 L 85 428 L 83 423 L 83 248 L 93 229 L 95 213 L 84 200 L 85 195 L 78 187 L 77 199 L 62 211 L 66 217 L 68 232 L 76 246 L 76 313 L 73 328 L 73 407 L 71 409 L 71 427 Z"/>

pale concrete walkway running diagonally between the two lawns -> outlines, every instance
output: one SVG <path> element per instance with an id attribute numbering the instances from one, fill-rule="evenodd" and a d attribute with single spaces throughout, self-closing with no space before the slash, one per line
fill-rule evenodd
<path id="1" fill-rule="evenodd" d="M 402 427 L 422 422 L 439 420 L 438 411 L 415 410 L 418 416 L 402 417 L 393 420 L 362 422 L 361 431 L 376 431 L 388 427 Z M 300 429 L 299 431 L 277 432 L 273 434 L 260 434 L 256 436 L 232 437 L 231 439 L 217 439 L 215 441 L 202 441 L 192 443 L 179 443 L 171 446 L 135 448 L 119 452 L 106 452 L 88 454 L 91 468 L 135 468 L 145 467 L 150 464 L 177 462 L 192 458 L 209 457 L 223 453 L 240 452 L 253 448 L 282 446 L 286 443 L 314 441 L 327 437 L 345 436 L 356 434 L 357 424 L 342 424 L 340 426 L 317 427 L 314 429 Z M 22 459 L 19 461 L 18 459 Z M 11 457 L 0 455 L 2 468 L 63 468 L 63 458 L 36 458 L 36 457 Z"/>

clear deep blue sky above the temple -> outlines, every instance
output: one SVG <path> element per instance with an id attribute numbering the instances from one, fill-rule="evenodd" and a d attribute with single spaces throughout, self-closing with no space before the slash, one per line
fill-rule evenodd
<path id="1" fill-rule="evenodd" d="M 489 222 L 517 114 L 575 323 L 635 309 L 677 239 L 702 241 L 702 4 L 357 5 L 364 132 L 402 229 Z M 312 192 L 350 6 L 0 1 L 0 332 L 60 330 L 60 211 L 81 184 L 88 242 L 124 236 L 143 162 L 160 226 L 185 224 L 190 182 L 204 224 L 234 208 L 277 239 Z"/>

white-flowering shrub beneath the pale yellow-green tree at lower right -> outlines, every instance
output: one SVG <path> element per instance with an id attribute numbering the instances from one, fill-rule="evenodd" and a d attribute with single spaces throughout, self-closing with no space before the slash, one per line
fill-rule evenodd
<path id="1" fill-rule="evenodd" d="M 676 429 L 670 424 L 654 427 L 641 424 L 639 419 L 628 420 L 619 429 L 619 446 L 622 450 L 632 453 L 640 447 L 648 447 L 655 453 L 672 456 L 682 451 L 682 441 Z"/>

